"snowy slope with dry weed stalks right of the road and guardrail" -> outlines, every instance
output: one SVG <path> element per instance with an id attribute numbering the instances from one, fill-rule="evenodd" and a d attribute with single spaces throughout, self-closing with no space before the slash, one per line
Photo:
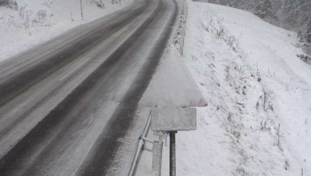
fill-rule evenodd
<path id="1" fill-rule="evenodd" d="M 178 132 L 179 176 L 311 176 L 311 66 L 296 33 L 188 1 L 184 62 L 205 96 Z"/>

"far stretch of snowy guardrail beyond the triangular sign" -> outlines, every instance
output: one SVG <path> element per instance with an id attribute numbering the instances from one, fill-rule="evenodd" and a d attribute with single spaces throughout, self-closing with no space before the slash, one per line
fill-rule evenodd
<path id="1" fill-rule="evenodd" d="M 183 8 L 180 14 L 177 33 L 173 42 L 174 46 L 178 49 L 181 55 L 183 55 L 184 52 L 186 21 L 187 21 L 187 0 L 183 0 Z"/>

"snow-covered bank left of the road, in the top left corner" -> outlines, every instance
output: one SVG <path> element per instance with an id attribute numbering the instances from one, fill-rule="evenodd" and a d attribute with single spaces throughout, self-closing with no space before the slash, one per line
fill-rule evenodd
<path id="1" fill-rule="evenodd" d="M 0 7 L 0 62 L 78 25 L 112 13 L 132 0 L 16 0 L 17 9 Z M 114 2 L 114 4 L 112 3 Z"/>

